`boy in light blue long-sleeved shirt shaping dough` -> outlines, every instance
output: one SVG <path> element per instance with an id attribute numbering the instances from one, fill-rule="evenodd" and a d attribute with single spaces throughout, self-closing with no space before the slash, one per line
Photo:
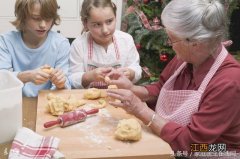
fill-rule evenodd
<path id="1" fill-rule="evenodd" d="M 0 69 L 13 71 L 25 84 L 25 96 L 37 96 L 41 89 L 70 88 L 65 76 L 70 44 L 50 31 L 60 21 L 57 7 L 56 0 L 17 0 L 12 24 L 18 31 L 1 35 Z"/>

